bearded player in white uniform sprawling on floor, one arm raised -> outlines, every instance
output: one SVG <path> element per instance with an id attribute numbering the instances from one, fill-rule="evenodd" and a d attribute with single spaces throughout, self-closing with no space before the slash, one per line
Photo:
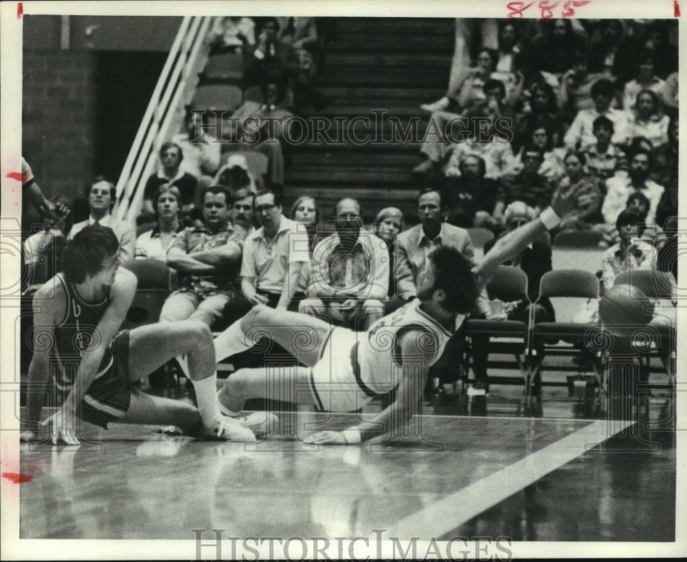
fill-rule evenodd
<path id="1" fill-rule="evenodd" d="M 223 412 L 240 414 L 249 398 L 289 396 L 324 411 L 354 412 L 374 396 L 393 392 L 390 406 L 372 420 L 343 431 L 318 431 L 306 441 L 346 445 L 406 433 L 410 419 L 419 413 L 427 370 L 497 267 L 561 219 L 583 213 L 593 201 L 592 194 L 574 188 L 557 191 L 551 207 L 498 240 L 474 267 L 458 251 L 440 247 L 429 256 L 431 265 L 418 286 L 418 299 L 379 319 L 367 332 L 255 306 L 215 339 L 218 361 L 251 348 L 254 339 L 267 334 L 306 367 L 238 370 L 219 393 Z"/>

